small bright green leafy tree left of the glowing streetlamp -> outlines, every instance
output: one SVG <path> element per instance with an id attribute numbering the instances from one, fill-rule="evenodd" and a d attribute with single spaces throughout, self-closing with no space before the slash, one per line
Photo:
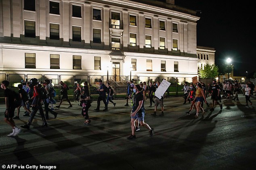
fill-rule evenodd
<path id="1" fill-rule="evenodd" d="M 218 74 L 218 66 L 214 64 L 206 64 L 204 70 L 199 70 L 199 76 L 201 78 L 215 78 Z"/>

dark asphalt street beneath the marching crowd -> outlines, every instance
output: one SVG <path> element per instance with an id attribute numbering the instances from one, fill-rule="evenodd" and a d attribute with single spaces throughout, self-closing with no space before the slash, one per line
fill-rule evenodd
<path id="1" fill-rule="evenodd" d="M 256 162 L 256 98 L 245 106 L 239 101 L 222 98 L 223 109 L 214 111 L 204 104 L 206 114 L 199 118 L 187 115 L 190 104 L 182 97 L 164 99 L 164 116 L 153 117 L 149 99 L 145 101 L 145 122 L 154 128 L 149 137 L 145 127 L 128 140 L 130 109 L 126 100 L 109 103 L 109 111 L 95 112 L 97 102 L 89 109 L 90 125 L 83 125 L 82 108 L 63 102 L 56 119 L 50 115 L 48 127 L 41 128 L 36 115 L 29 130 L 22 129 L 15 137 L 4 119 L 4 104 L 0 105 L 0 166 L 9 164 L 57 164 L 61 170 L 251 170 Z M 210 104 L 210 98 L 207 98 Z M 157 108 L 157 115 L 161 108 Z M 28 117 L 15 120 L 17 127 Z M 6 168 L 5 168 L 6 169 Z"/>

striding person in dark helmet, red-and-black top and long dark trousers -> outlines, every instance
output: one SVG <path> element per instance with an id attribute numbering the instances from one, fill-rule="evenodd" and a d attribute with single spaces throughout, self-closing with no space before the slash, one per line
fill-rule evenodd
<path id="1" fill-rule="evenodd" d="M 41 127 L 47 127 L 48 125 L 47 125 L 46 117 L 44 115 L 44 111 L 42 108 L 43 98 L 42 98 L 42 92 L 40 92 L 40 90 L 42 90 L 42 89 L 38 88 L 38 86 L 37 86 L 38 80 L 36 78 L 31 78 L 30 83 L 34 86 L 33 97 L 31 99 L 29 99 L 30 101 L 32 101 L 32 112 L 30 114 L 27 124 L 21 125 L 21 127 L 24 129 L 29 129 L 38 110 L 39 110 L 39 113 L 40 113 L 40 115 L 42 117 L 42 121 L 43 121 L 43 124 L 41 125 Z"/>

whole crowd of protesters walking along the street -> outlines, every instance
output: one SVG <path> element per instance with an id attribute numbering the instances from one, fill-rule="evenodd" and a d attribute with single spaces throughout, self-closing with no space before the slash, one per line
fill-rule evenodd
<path id="1" fill-rule="evenodd" d="M 164 116 L 164 94 L 161 98 L 155 96 L 155 91 L 160 86 L 161 82 L 157 81 L 155 83 L 149 82 L 149 85 L 146 82 L 141 82 L 140 84 L 135 85 L 133 81 L 127 82 L 127 96 L 126 96 L 126 105 L 129 106 L 129 99 L 131 100 L 131 130 L 132 134 L 128 139 L 136 139 L 135 132 L 140 130 L 140 126 L 144 126 L 149 131 L 149 136 L 153 135 L 153 128 L 151 128 L 147 123 L 144 122 L 145 118 L 145 101 L 149 98 L 149 106 L 152 107 L 154 104 L 153 117 L 157 116 L 157 107 L 161 107 L 161 114 L 159 116 Z M 61 85 L 61 100 L 59 105 L 56 107 L 59 108 L 64 99 L 69 103 L 69 107 L 72 107 L 72 104 L 68 98 L 69 87 L 63 81 L 60 82 Z M 2 81 L 1 88 L 4 89 L 4 98 L 5 98 L 5 118 L 4 121 L 8 123 L 13 128 L 13 132 L 7 136 L 16 136 L 19 134 L 21 129 L 16 127 L 14 119 L 20 119 L 19 113 L 20 108 L 23 107 L 25 114 L 23 116 L 29 116 L 29 120 L 25 125 L 21 127 L 24 129 L 29 129 L 37 111 L 39 110 L 40 116 L 42 117 L 41 127 L 47 127 L 47 120 L 49 119 L 48 113 L 52 113 L 54 119 L 57 117 L 57 112 L 55 112 L 54 105 L 56 101 L 54 97 L 56 92 L 52 86 L 52 80 L 44 80 L 44 82 L 38 82 L 36 78 L 32 78 L 29 82 L 18 85 L 19 92 L 13 92 L 8 88 L 9 82 L 7 80 Z M 84 117 L 84 125 L 90 125 L 91 120 L 89 119 L 88 110 L 91 107 L 91 96 L 90 90 L 88 87 L 88 82 L 84 82 L 84 86 L 81 84 L 76 84 L 75 100 L 79 102 L 78 105 L 82 107 L 82 116 Z M 95 89 L 99 96 L 97 98 L 97 108 L 95 111 L 99 112 L 100 103 L 103 100 L 105 107 L 103 111 L 108 111 L 108 104 L 111 102 L 113 107 L 116 103 L 113 102 L 113 88 L 111 88 L 110 82 L 107 82 L 107 86 L 103 83 L 102 80 L 99 80 L 99 89 Z M 206 101 L 207 97 L 212 99 L 212 106 L 209 109 L 214 111 L 216 105 L 220 106 L 222 110 L 221 98 L 227 97 L 227 99 L 232 99 L 239 101 L 238 94 L 243 94 L 246 97 L 246 106 L 248 102 L 252 105 L 250 96 L 253 95 L 253 91 L 256 90 L 256 87 L 252 82 L 248 83 L 238 83 L 235 82 L 232 84 L 230 81 L 216 82 L 215 80 L 212 83 L 208 83 L 208 86 L 203 82 L 197 82 L 195 84 L 185 82 L 182 89 L 184 91 L 184 102 L 186 104 L 191 103 L 187 115 L 191 115 L 193 109 L 195 109 L 195 118 L 199 117 L 199 111 L 202 112 L 202 115 L 206 113 L 203 109 L 204 103 L 207 104 L 207 107 L 210 107 L 210 104 Z M 106 95 L 107 93 L 107 95 Z M 18 96 L 17 96 L 18 95 Z M 44 104 L 44 109 L 43 109 Z M 51 105 L 51 108 L 49 106 Z M 15 116 L 15 109 L 17 108 L 17 115 Z M 44 114 L 45 113 L 45 114 Z M 15 117 L 14 117 L 15 116 Z"/>

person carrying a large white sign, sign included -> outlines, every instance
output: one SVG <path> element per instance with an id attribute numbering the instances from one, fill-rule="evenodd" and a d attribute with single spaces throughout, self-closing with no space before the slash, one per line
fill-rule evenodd
<path id="1" fill-rule="evenodd" d="M 168 89 L 168 87 L 170 86 L 170 82 L 167 82 L 166 80 L 163 80 L 162 83 L 160 83 L 159 81 L 156 82 L 157 85 L 157 90 L 155 91 L 155 111 L 153 114 L 153 116 L 156 116 L 156 110 L 158 105 L 162 108 L 162 113 L 159 116 L 164 116 L 164 93 L 166 92 L 166 90 Z"/>

